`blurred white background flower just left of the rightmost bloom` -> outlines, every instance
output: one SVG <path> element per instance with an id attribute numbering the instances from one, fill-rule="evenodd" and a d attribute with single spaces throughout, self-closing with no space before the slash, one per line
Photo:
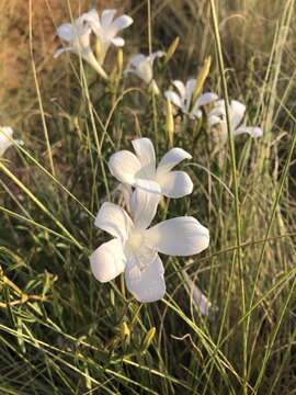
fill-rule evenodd
<path id="1" fill-rule="evenodd" d="M 196 79 L 187 80 L 185 86 L 182 81 L 179 80 L 172 81 L 172 84 L 177 88 L 178 93 L 166 91 L 166 98 L 168 98 L 174 105 L 177 105 L 191 119 L 200 119 L 202 116 L 201 108 L 218 99 L 217 94 L 206 92 L 201 94 L 195 103 L 192 103 L 192 95 L 196 84 Z"/>

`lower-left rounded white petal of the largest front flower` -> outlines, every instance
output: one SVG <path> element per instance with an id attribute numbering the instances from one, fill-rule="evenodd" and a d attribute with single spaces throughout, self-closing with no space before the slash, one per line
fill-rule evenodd
<path id="1" fill-rule="evenodd" d="M 113 239 L 96 248 L 90 256 L 91 271 L 100 282 L 115 279 L 124 271 L 125 256 L 121 240 Z"/>

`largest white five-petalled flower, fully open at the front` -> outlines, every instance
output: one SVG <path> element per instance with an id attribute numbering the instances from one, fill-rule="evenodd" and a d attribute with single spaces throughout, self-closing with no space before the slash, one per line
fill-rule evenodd
<path id="1" fill-rule="evenodd" d="M 149 183 L 150 192 L 137 188 L 133 193 L 132 218 L 116 204 L 102 205 L 94 224 L 115 238 L 90 256 L 96 280 L 107 282 L 124 272 L 128 291 L 139 302 L 155 302 L 164 295 L 164 270 L 158 252 L 191 256 L 209 242 L 208 229 L 192 216 L 167 219 L 149 228 L 161 196 L 157 183 Z"/>

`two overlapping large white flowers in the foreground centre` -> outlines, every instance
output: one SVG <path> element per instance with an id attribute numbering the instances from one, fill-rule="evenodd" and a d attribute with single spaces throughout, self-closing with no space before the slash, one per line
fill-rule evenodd
<path id="1" fill-rule="evenodd" d="M 192 181 L 184 171 L 172 170 L 191 155 L 172 148 L 156 166 L 156 154 L 149 138 L 133 140 L 136 155 L 128 150 L 114 154 L 109 161 L 111 173 L 127 185 L 127 213 L 123 207 L 104 203 L 95 226 L 114 238 L 100 246 L 91 256 L 94 276 L 100 282 L 125 273 L 129 292 L 139 302 L 163 297 L 166 283 L 160 253 L 191 256 L 208 247 L 209 234 L 197 219 L 183 216 L 150 227 L 162 195 L 182 198 L 192 192 Z"/>

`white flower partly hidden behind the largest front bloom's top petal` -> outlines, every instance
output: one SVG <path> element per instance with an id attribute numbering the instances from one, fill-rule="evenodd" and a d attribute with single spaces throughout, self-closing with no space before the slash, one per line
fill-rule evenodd
<path id="1" fill-rule="evenodd" d="M 168 198 L 182 198 L 193 190 L 191 178 L 184 171 L 171 171 L 179 162 L 191 159 L 182 148 L 170 149 L 156 166 L 156 153 L 149 138 L 137 138 L 132 142 L 136 155 L 121 150 L 111 156 L 111 173 L 122 183 L 136 187 L 144 180 L 159 184 L 161 193 Z"/>

